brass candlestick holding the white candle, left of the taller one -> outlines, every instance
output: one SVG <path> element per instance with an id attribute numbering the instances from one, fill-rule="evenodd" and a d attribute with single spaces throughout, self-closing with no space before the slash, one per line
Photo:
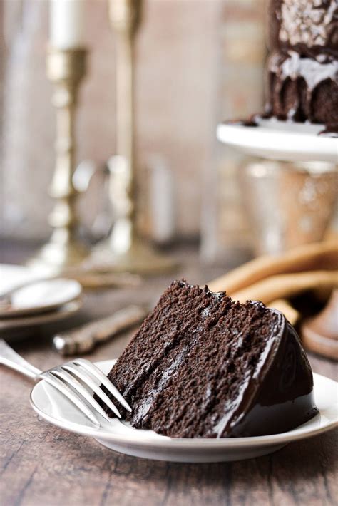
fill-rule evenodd
<path id="1" fill-rule="evenodd" d="M 77 191 L 73 186 L 75 170 L 74 120 L 78 87 L 86 74 L 87 51 L 83 48 L 51 48 L 47 55 L 47 76 L 55 85 L 52 103 L 56 108 L 56 167 L 50 195 L 56 205 L 49 216 L 51 239 L 29 264 L 45 264 L 53 272 L 80 264 L 88 255 L 77 237 Z"/>

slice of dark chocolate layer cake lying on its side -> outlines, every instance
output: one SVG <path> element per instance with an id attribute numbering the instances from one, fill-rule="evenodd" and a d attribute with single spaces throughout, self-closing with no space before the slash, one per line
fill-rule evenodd
<path id="1" fill-rule="evenodd" d="M 184 281 L 164 292 L 108 378 L 133 427 L 175 438 L 281 433 L 318 413 L 309 362 L 279 311 Z"/>

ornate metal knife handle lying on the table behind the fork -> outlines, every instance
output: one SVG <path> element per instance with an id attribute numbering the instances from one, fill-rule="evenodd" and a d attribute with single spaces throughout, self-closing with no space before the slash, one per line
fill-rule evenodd
<path id="1" fill-rule="evenodd" d="M 107 318 L 56 334 L 53 347 L 63 356 L 88 353 L 96 344 L 108 341 L 119 332 L 140 323 L 146 315 L 147 311 L 141 306 L 127 306 Z"/>

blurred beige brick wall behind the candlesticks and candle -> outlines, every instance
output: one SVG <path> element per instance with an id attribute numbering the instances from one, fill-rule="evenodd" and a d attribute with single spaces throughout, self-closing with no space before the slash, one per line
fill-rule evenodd
<path id="1" fill-rule="evenodd" d="M 23 11 L 14 4 L 21 4 Z M 115 148 L 115 45 L 106 0 L 87 4 L 91 70 L 81 88 L 78 159 L 91 158 L 102 165 Z M 241 220 L 240 210 L 232 205 L 237 202 L 232 173 L 236 158 L 227 158 L 217 147 L 215 126 L 225 117 L 258 108 L 263 4 L 264 0 L 145 1 L 137 48 L 138 163 L 142 177 L 142 167 L 158 153 L 173 171 L 179 235 L 199 233 L 201 207 L 215 200 L 212 181 L 217 167 L 226 186 L 223 194 L 218 192 L 220 200 L 230 200 L 236 220 Z M 47 7 L 48 2 L 40 0 L 4 1 L 6 14 L 11 11 L 5 16 L 0 168 L 4 235 L 48 234 L 46 215 L 52 202 L 46 190 L 53 173 L 54 113 L 44 70 Z M 252 37 L 255 44 L 250 43 Z M 90 202 L 85 209 L 90 215 Z M 212 229 L 211 218 L 207 221 Z"/>

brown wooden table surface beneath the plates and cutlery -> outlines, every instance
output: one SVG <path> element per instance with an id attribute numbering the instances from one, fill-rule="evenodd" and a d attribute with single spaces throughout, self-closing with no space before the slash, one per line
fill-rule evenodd
<path id="1" fill-rule="evenodd" d="M 217 273 L 178 252 L 181 273 L 205 282 Z M 3 253 L 15 262 L 18 253 Z M 81 314 L 68 322 L 111 314 L 126 304 L 151 304 L 171 277 L 149 279 L 138 290 L 88 292 Z M 58 327 L 56 327 L 58 329 Z M 55 328 L 14 343 L 41 369 L 61 363 L 51 349 Z M 93 361 L 117 357 L 131 333 L 96 348 Z M 337 379 L 337 364 L 309 354 L 315 372 Z M 234 463 L 180 464 L 115 453 L 91 438 L 39 420 L 29 405 L 31 381 L 0 369 L 0 504 L 11 505 L 337 505 L 337 430 L 287 445 L 272 455 Z"/>

